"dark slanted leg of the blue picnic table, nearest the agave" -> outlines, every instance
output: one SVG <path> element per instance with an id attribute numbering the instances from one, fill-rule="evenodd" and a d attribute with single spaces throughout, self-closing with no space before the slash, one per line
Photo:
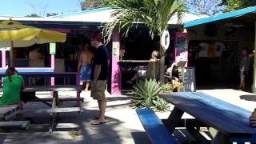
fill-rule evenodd
<path id="1" fill-rule="evenodd" d="M 170 131 L 170 133 L 173 133 L 175 127 L 178 126 L 178 123 L 181 121 L 182 114 L 184 114 L 184 111 L 174 106 L 174 110 L 171 111 L 169 117 L 163 121 L 164 125 Z"/>

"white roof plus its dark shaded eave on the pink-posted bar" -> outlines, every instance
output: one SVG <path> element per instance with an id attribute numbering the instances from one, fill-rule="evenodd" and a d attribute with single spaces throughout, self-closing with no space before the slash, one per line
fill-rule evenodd
<path id="1" fill-rule="evenodd" d="M 41 28 L 64 28 L 64 29 L 97 29 L 106 22 L 112 22 L 111 14 L 114 9 L 109 7 L 98 8 L 93 10 L 83 10 L 80 12 L 56 15 L 46 18 L 30 18 L 30 17 L 11 17 L 11 16 L 0 16 L 0 21 L 14 20 L 21 22 L 24 25 L 37 26 Z M 198 18 L 208 17 L 205 14 L 198 14 L 191 11 L 186 11 L 183 14 L 182 22 L 193 21 Z M 178 24 L 177 14 L 170 18 L 169 25 L 180 25 Z M 142 25 L 138 23 L 138 25 Z M 181 24 L 182 25 L 182 24 Z"/>

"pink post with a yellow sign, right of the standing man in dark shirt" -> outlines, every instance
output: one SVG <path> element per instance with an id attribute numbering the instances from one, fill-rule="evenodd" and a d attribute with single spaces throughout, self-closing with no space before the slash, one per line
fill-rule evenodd
<path id="1" fill-rule="evenodd" d="M 120 36 L 119 32 L 116 31 L 112 37 L 112 67 L 111 71 L 111 94 L 121 94 L 121 70 L 118 65 L 119 62 L 119 49 L 120 49 Z"/>

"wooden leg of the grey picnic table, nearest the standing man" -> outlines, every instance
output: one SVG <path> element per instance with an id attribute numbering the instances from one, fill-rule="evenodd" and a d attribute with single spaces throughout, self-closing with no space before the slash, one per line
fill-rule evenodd
<path id="1" fill-rule="evenodd" d="M 58 106 L 58 91 L 53 92 L 53 103 L 52 108 Z M 49 132 L 52 133 L 54 131 L 55 126 L 57 125 L 57 113 L 51 113 L 51 122 Z"/>

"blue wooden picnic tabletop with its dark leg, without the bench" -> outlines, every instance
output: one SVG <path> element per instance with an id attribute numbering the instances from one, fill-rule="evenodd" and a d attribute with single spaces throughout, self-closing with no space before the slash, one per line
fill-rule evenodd
<path id="1" fill-rule="evenodd" d="M 174 105 L 174 110 L 166 120 L 166 127 L 171 132 L 181 121 L 182 114 L 186 112 L 206 126 L 218 130 L 214 138 L 215 143 L 220 143 L 218 140 L 221 137 L 228 142 L 256 142 L 256 129 L 249 126 L 251 114 L 249 110 L 202 92 L 160 94 L 160 96 Z"/>

